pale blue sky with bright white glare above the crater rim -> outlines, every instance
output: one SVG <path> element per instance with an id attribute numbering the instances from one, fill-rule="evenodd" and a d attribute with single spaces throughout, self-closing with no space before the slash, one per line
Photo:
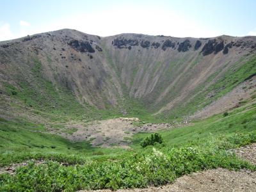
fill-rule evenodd
<path id="1" fill-rule="evenodd" d="M 209 37 L 256 35 L 256 1 L 0 1 L 0 40 L 71 28 L 119 33 Z"/>

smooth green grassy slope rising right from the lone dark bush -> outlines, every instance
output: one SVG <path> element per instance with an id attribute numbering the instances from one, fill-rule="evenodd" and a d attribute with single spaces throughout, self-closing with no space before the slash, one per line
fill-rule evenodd
<path id="1" fill-rule="evenodd" d="M 159 132 L 163 135 L 166 145 L 179 147 L 191 142 L 202 143 L 212 138 L 256 130 L 255 102 L 228 112 L 228 116 L 225 117 L 223 114 L 214 115 L 205 120 L 193 122 L 193 125 Z M 140 141 L 148 135 L 149 133 L 135 134 L 132 146 L 135 148 L 140 147 Z"/>

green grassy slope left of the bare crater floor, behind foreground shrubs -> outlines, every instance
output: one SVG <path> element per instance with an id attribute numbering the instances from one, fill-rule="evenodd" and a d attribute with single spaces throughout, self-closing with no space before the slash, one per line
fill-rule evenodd
<path id="1" fill-rule="evenodd" d="M 72 163 L 72 156 L 81 161 L 97 155 L 110 156 L 122 152 L 119 148 L 95 148 L 88 141 L 72 143 L 61 136 L 46 133 L 42 124 L 3 118 L 0 118 L 0 141 L 0 166 L 27 159 L 59 159 Z"/>

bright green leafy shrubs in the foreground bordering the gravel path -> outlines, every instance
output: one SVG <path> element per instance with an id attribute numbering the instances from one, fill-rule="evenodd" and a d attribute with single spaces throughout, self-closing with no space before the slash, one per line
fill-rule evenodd
<path id="1" fill-rule="evenodd" d="M 47 161 L 36 165 L 31 161 L 17 169 L 15 175 L 2 174 L 2 191 L 76 191 L 78 189 L 143 188 L 172 182 L 175 178 L 209 168 L 255 171 L 252 164 L 237 159 L 224 150 L 230 145 L 256 141 L 256 132 L 236 134 L 222 145 L 207 143 L 207 147 L 191 145 L 180 148 L 148 148 L 145 152 L 125 154 L 117 161 L 86 161 L 63 166 Z"/>

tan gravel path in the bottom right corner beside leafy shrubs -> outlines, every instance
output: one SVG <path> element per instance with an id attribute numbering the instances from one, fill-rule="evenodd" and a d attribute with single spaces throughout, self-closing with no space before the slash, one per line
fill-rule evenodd
<path id="1" fill-rule="evenodd" d="M 256 164 L 256 143 L 232 150 L 237 156 Z M 97 192 L 109 192 L 98 190 Z M 144 191 L 256 191 L 256 172 L 249 170 L 229 171 L 222 168 L 184 175 L 173 184 L 146 189 L 123 189 L 119 192 Z M 85 191 L 84 191 L 85 192 Z"/>

